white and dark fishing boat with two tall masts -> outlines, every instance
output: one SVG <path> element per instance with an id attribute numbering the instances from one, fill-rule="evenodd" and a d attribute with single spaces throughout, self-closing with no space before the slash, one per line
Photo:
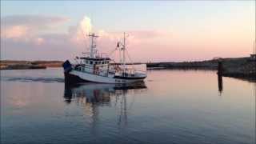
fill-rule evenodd
<path id="1" fill-rule="evenodd" d="M 132 83 L 143 81 L 146 70 L 136 70 L 133 63 L 126 63 L 126 34 L 123 42 L 118 42 L 114 50 L 118 50 L 120 61 L 114 62 L 110 56 L 99 53 L 95 39 L 98 35 L 88 34 L 90 49 L 82 57 L 76 57 L 73 64 L 69 60 L 63 63 L 65 82 L 100 82 L 100 83 Z"/>

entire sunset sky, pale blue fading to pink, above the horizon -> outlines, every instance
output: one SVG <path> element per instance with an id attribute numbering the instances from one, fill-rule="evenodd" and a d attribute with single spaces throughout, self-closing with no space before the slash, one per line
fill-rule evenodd
<path id="1" fill-rule="evenodd" d="M 34 12 L 31 12 L 34 11 Z M 255 39 L 255 2 L 1 1 L 1 58 L 65 60 L 88 46 L 109 52 L 129 34 L 135 62 L 247 57 Z"/>

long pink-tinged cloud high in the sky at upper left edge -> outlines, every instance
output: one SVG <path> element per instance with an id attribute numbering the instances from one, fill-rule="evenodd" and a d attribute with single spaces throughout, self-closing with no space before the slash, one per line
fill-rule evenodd
<path id="1" fill-rule="evenodd" d="M 51 30 L 69 18 L 43 15 L 12 15 L 1 18 L 1 38 L 34 41 L 41 33 Z M 42 42 L 42 41 L 41 41 Z"/>

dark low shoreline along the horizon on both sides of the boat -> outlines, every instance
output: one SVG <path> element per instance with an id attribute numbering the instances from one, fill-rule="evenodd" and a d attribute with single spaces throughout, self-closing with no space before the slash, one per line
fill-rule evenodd
<path id="1" fill-rule="evenodd" d="M 222 62 L 222 76 L 232 78 L 255 78 L 256 61 L 246 58 L 221 58 L 198 62 L 148 62 L 147 70 L 218 70 L 218 62 Z M 62 61 L 13 61 L 1 60 L 0 70 L 46 69 L 61 67 Z M 131 64 L 131 63 L 127 63 Z M 134 63 L 142 64 L 142 63 Z"/>

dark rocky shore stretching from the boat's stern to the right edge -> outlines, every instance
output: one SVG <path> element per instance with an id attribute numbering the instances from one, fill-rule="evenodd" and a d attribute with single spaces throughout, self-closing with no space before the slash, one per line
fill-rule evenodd
<path id="1" fill-rule="evenodd" d="M 250 58 L 219 58 L 200 62 L 150 62 L 147 69 L 217 70 L 222 62 L 222 76 L 235 78 L 255 78 L 256 61 Z"/>

